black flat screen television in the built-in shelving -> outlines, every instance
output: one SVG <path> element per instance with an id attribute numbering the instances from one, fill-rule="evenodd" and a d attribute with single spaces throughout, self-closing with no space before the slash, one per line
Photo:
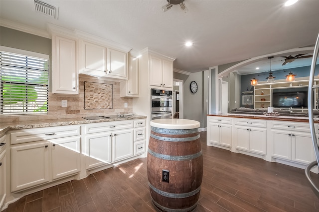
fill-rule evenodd
<path id="1" fill-rule="evenodd" d="M 273 107 L 307 108 L 308 88 L 273 89 Z"/>

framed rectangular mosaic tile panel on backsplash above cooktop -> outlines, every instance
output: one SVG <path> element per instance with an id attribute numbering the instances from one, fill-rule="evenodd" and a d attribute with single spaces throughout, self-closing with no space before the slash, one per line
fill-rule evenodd
<path id="1" fill-rule="evenodd" d="M 113 85 L 84 82 L 84 109 L 112 109 Z"/>

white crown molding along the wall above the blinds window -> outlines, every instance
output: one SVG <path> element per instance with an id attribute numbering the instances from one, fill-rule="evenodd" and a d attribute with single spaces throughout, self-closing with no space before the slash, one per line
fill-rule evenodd
<path id="1" fill-rule="evenodd" d="M 25 25 L 22 23 L 14 22 L 11 20 L 1 18 L 0 25 L 7 27 L 7 28 L 15 29 L 18 31 L 26 32 L 29 34 L 34 34 L 34 35 L 41 36 L 41 37 L 51 38 L 49 32 L 47 32 L 46 30 L 42 30 L 42 29 L 28 26 L 28 25 Z"/>

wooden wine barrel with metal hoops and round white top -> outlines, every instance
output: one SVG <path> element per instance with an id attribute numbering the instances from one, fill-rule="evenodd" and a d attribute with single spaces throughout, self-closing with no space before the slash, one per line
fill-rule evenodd
<path id="1" fill-rule="evenodd" d="M 203 176 L 200 123 L 187 119 L 151 121 L 147 173 L 152 202 L 161 212 L 192 212 Z"/>

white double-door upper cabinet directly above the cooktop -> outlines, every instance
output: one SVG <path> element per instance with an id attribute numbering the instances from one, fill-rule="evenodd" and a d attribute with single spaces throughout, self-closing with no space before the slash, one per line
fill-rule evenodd
<path id="1" fill-rule="evenodd" d="M 80 39 L 80 73 L 118 80 L 128 79 L 128 52 Z"/>

